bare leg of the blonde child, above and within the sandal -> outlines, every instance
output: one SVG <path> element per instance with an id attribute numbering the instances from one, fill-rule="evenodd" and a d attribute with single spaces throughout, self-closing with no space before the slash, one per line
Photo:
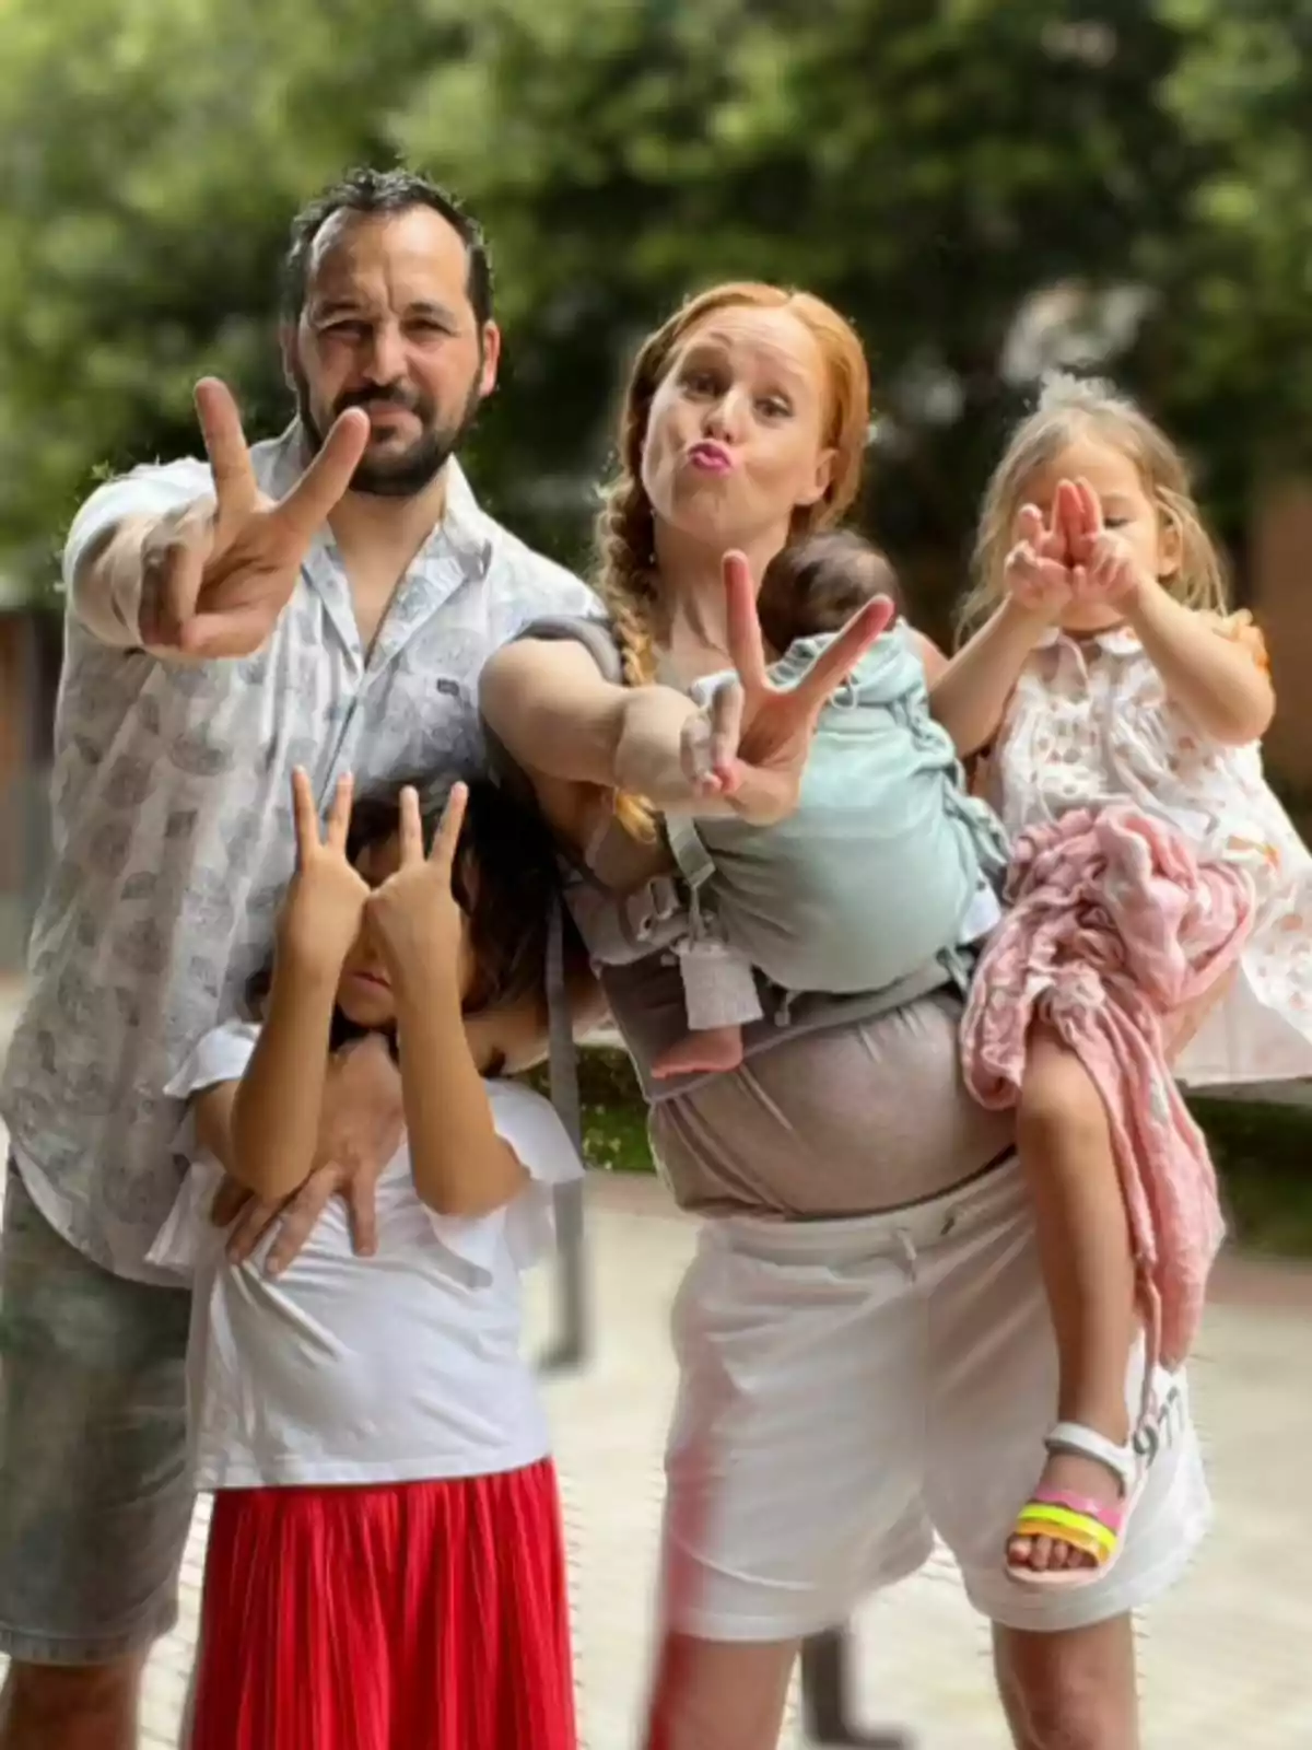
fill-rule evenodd
<path id="1" fill-rule="evenodd" d="M 1057 1334 L 1058 1419 L 1125 1446 L 1125 1377 L 1137 1328 L 1125 1197 L 1102 1096 L 1044 1027 L 1030 1034 L 1016 1139 Z M 1051 1452 L 1041 1484 L 1109 1507 L 1121 1498 L 1111 1470 L 1074 1452 Z M 1009 1564 L 1020 1568 L 1088 1566 L 1092 1559 L 1060 1540 L 1013 1538 L 1008 1547 Z"/>

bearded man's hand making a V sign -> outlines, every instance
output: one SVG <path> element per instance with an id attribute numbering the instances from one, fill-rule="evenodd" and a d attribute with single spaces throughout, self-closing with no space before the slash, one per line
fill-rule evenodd
<path id="1" fill-rule="evenodd" d="M 196 385 L 213 499 L 161 522 L 142 544 L 140 634 L 147 649 L 187 660 L 250 656 L 296 590 L 301 562 L 352 483 L 369 416 L 343 413 L 276 504 L 255 485 L 241 415 L 217 378 Z"/>

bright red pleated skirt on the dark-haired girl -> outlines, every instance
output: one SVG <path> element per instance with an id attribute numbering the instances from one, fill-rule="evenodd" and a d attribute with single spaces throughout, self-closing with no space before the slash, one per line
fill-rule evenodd
<path id="1" fill-rule="evenodd" d="M 577 1750 L 549 1461 L 215 1496 L 191 1750 Z"/>

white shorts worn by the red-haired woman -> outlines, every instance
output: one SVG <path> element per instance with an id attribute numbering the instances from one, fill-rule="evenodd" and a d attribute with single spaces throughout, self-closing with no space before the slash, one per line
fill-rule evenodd
<path id="1" fill-rule="evenodd" d="M 1057 1419 L 1057 1356 L 1015 1162 L 885 1216 L 708 1220 L 673 1309 L 665 1610 L 684 1634 L 777 1642 L 913 1573 L 934 1531 L 994 1622 L 1137 1610 L 1211 1519 L 1183 1376 L 1141 1432 L 1149 1480 L 1114 1570 L 1023 1591 L 1002 1564 Z M 1141 1363 L 1127 1381 L 1141 1402 Z"/>

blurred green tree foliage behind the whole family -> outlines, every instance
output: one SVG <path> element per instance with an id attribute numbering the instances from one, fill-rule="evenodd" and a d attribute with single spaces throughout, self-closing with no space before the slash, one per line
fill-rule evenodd
<path id="1" fill-rule="evenodd" d="M 983 474 L 1044 364 L 1125 374 L 1235 530 L 1260 450 L 1281 458 L 1312 429 L 1289 357 L 1312 259 L 1309 61 L 1281 60 L 1305 14 L 9 0 L 0 539 L 49 576 L 96 467 L 194 448 L 201 369 L 234 382 L 252 430 L 275 425 L 287 219 L 345 164 L 395 156 L 490 229 L 507 364 L 474 467 L 562 556 L 586 550 L 633 340 L 726 275 L 805 284 L 857 322 L 880 415 L 866 513 L 938 632 Z"/>

